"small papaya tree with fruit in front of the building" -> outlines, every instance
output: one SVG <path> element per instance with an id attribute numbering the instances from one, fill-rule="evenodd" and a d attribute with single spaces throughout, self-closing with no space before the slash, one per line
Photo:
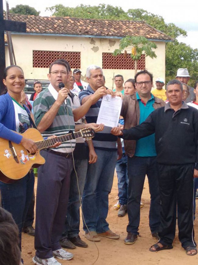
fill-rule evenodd
<path id="1" fill-rule="evenodd" d="M 157 45 L 154 42 L 150 42 L 143 36 L 127 36 L 122 38 L 119 43 L 119 49 L 115 49 L 114 55 L 125 53 L 127 50 L 131 50 L 131 58 L 135 61 L 135 74 L 137 73 L 137 61 L 144 53 L 150 58 L 156 58 L 156 54 L 152 49 L 156 49 Z"/>

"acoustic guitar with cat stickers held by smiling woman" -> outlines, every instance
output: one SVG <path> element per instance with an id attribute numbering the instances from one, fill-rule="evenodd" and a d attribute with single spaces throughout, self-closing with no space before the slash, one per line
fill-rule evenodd
<path id="1" fill-rule="evenodd" d="M 91 139 L 94 137 L 94 130 L 85 128 L 79 132 L 71 132 L 46 140 L 44 140 L 41 133 L 34 128 L 27 129 L 27 131 L 21 135 L 27 139 L 33 140 L 38 149 L 35 154 L 30 154 L 22 144 L 13 143 L 9 140 L 0 138 L 0 181 L 2 182 L 12 183 L 13 180 L 19 180 L 26 176 L 31 168 L 37 168 L 44 164 L 45 159 L 40 155 L 41 149 L 51 147 L 57 142 L 63 143 L 79 137 Z"/>

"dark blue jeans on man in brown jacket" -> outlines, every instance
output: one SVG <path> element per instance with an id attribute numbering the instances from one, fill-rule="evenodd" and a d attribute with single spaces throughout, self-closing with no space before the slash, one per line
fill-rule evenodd
<path id="1" fill-rule="evenodd" d="M 152 233 L 158 232 L 160 225 L 160 193 L 156 157 L 128 157 L 129 199 L 127 212 L 129 224 L 127 232 L 138 233 L 140 225 L 140 201 L 145 175 L 148 177 L 150 191 L 149 226 Z"/>

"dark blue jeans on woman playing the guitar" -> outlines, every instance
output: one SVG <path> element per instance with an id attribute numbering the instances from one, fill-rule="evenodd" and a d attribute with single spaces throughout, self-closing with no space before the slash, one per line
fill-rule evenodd
<path id="1" fill-rule="evenodd" d="M 34 191 L 34 173 L 31 170 L 25 177 L 11 184 L 0 181 L 2 207 L 12 214 L 19 228 L 20 249 L 21 231 Z"/>

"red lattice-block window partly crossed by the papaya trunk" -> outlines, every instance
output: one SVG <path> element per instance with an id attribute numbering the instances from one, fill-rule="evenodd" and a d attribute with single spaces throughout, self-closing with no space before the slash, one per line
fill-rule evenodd
<path id="1" fill-rule="evenodd" d="M 121 53 L 113 56 L 112 53 L 102 53 L 102 68 L 103 69 L 135 69 L 135 62 L 132 60 L 129 53 Z M 145 54 L 141 55 L 137 61 L 137 69 L 145 69 Z"/>

